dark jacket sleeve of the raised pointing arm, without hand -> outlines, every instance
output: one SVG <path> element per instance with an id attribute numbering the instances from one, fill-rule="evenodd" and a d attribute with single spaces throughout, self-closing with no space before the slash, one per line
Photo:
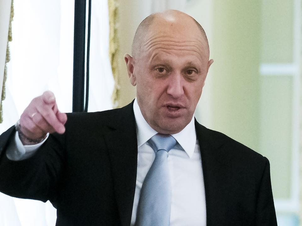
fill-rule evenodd
<path id="1" fill-rule="evenodd" d="M 12 161 L 6 149 L 14 126 L 0 135 L 0 191 L 17 198 L 46 202 L 56 195 L 64 163 L 64 135 L 50 135 L 30 158 Z"/>

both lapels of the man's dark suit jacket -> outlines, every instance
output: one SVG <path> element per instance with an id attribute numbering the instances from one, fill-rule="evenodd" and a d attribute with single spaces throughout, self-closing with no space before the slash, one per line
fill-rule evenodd
<path id="1" fill-rule="evenodd" d="M 133 200 L 137 177 L 137 134 L 133 113 L 133 102 L 118 109 L 113 121 L 104 129 L 104 139 L 112 165 L 116 202 L 123 226 L 131 223 Z M 212 131 L 195 120 L 196 135 L 199 140 L 204 189 L 206 199 L 207 226 L 223 225 L 227 210 L 230 175 L 227 152 L 223 142 L 212 137 Z M 221 144 L 222 143 L 222 144 Z"/>

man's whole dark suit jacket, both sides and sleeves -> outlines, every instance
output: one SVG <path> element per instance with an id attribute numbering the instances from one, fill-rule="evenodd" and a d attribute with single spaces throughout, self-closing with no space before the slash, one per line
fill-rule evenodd
<path id="1" fill-rule="evenodd" d="M 195 121 L 208 226 L 277 225 L 269 161 Z M 70 113 L 30 159 L 10 161 L 14 127 L 0 136 L 0 191 L 50 200 L 58 226 L 129 226 L 137 176 L 133 102 L 95 113 Z M 184 225 L 185 226 L 185 225 Z"/>

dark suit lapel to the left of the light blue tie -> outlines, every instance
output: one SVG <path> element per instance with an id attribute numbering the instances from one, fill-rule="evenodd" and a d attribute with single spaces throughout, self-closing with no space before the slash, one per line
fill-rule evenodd
<path id="1" fill-rule="evenodd" d="M 116 112 L 116 117 L 112 117 L 114 121 L 103 134 L 111 161 L 121 224 L 129 226 L 137 176 L 137 135 L 133 102 Z"/>

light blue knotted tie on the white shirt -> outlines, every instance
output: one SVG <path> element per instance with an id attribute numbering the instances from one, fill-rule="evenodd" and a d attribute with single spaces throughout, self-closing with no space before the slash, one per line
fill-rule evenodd
<path id="1" fill-rule="evenodd" d="M 171 182 L 168 152 L 175 146 L 171 135 L 156 134 L 148 140 L 155 159 L 140 192 L 136 226 L 169 226 L 171 214 Z"/>

